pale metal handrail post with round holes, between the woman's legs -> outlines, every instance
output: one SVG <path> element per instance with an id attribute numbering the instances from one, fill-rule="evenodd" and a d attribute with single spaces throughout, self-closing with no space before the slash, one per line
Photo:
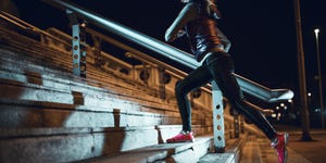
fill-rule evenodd
<path id="1" fill-rule="evenodd" d="M 214 148 L 215 152 L 223 153 L 225 151 L 223 95 L 215 82 L 212 82 L 212 99 Z"/>

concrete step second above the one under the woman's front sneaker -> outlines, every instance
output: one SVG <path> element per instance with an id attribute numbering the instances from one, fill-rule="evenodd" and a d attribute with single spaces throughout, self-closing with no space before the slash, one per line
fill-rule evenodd
<path id="1" fill-rule="evenodd" d="M 124 127 L 179 122 L 141 111 L 101 109 L 39 101 L 0 100 L 0 127 Z M 105 110 L 105 111 L 104 111 Z"/>

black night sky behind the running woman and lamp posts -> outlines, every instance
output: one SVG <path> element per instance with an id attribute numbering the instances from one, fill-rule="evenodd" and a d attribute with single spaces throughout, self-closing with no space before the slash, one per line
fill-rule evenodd
<path id="1" fill-rule="evenodd" d="M 62 30 L 68 29 L 63 11 L 37 0 L 13 1 L 20 9 L 21 18 L 26 22 L 42 29 L 51 26 Z M 72 1 L 162 41 L 165 29 L 183 8 L 178 0 Z M 322 0 L 301 0 L 309 90 L 317 84 L 314 79 L 317 75 L 316 42 L 313 32 L 315 27 L 321 29 L 322 72 L 326 80 L 326 10 L 322 2 Z M 235 60 L 236 73 L 271 88 L 290 88 L 298 91 L 293 0 L 217 0 L 217 7 L 223 15 L 218 22 L 220 28 L 233 43 L 229 52 Z M 188 50 L 184 38 L 172 45 Z"/>

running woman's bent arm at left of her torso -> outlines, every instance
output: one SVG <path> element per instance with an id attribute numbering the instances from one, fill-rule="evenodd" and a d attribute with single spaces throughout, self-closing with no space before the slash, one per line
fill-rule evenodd
<path id="1" fill-rule="evenodd" d="M 172 42 L 180 37 L 181 28 L 190 21 L 195 20 L 198 15 L 198 8 L 193 3 L 187 3 L 180 11 L 178 16 L 165 32 L 165 41 Z"/>

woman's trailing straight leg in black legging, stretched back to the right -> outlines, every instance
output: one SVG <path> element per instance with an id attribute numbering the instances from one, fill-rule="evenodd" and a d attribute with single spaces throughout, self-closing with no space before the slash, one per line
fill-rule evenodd
<path id="1" fill-rule="evenodd" d="M 240 113 L 250 118 L 271 140 L 273 140 L 276 136 L 274 127 L 261 112 L 252 109 L 248 104 L 236 77 L 233 75 L 234 63 L 231 57 L 226 52 L 218 52 L 215 55 L 208 58 L 205 64 L 224 97 L 230 100 Z"/>

